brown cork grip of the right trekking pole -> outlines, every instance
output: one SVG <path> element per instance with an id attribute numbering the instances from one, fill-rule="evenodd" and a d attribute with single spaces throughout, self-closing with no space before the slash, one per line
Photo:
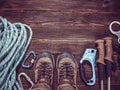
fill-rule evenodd
<path id="1" fill-rule="evenodd" d="M 105 55 L 105 59 L 109 60 L 111 62 L 112 61 L 112 37 L 106 37 L 104 38 L 105 40 L 105 49 L 106 49 L 106 55 Z"/>

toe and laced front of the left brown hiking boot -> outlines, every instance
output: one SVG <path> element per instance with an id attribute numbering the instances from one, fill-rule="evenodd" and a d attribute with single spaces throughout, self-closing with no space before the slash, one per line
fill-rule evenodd
<path id="1" fill-rule="evenodd" d="M 35 82 L 53 84 L 54 58 L 49 52 L 42 52 L 35 65 Z"/>

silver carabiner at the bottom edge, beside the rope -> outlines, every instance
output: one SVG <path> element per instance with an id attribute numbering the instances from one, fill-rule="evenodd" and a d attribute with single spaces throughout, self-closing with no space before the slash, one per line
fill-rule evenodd
<path id="1" fill-rule="evenodd" d="M 31 84 L 31 87 L 28 89 L 28 90 L 31 90 L 32 87 L 33 87 L 33 85 L 34 85 L 33 81 L 30 79 L 30 77 L 28 77 L 28 75 L 27 75 L 26 73 L 21 72 L 21 73 L 18 75 L 18 82 L 19 82 L 22 90 L 24 90 L 24 88 L 23 88 L 23 85 L 22 85 L 22 82 L 21 82 L 21 79 L 20 79 L 21 76 L 24 76 L 24 77 L 27 79 L 27 81 Z"/>

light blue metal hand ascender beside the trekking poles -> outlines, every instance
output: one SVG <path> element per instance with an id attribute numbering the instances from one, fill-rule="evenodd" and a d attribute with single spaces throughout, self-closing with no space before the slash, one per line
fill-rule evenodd
<path id="1" fill-rule="evenodd" d="M 81 74 L 81 77 L 82 77 L 83 81 L 88 86 L 92 86 L 96 82 L 96 76 L 95 76 L 96 52 L 97 52 L 96 49 L 88 48 L 88 49 L 85 50 L 85 52 L 83 54 L 83 57 L 80 60 L 80 74 Z M 85 72 L 84 72 L 84 67 L 83 67 L 84 62 L 89 62 L 91 64 L 91 67 L 92 67 L 92 77 L 89 80 L 87 80 L 86 77 L 85 77 Z"/>

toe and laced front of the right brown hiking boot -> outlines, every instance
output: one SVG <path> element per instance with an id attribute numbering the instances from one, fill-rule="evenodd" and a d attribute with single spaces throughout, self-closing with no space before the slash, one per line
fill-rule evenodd
<path id="1" fill-rule="evenodd" d="M 64 52 L 57 58 L 58 90 L 64 86 L 71 85 L 77 90 L 76 78 L 78 65 L 74 56 Z M 72 89 L 73 90 L 73 89 Z"/>

